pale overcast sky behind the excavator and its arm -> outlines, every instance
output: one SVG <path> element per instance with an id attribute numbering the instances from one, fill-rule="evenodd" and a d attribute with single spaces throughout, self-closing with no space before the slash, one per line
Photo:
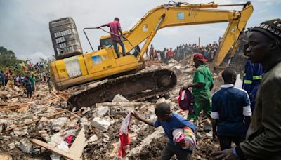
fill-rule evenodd
<path id="1" fill-rule="evenodd" d="M 188 0 L 189 3 L 207 3 L 205 0 Z M 0 0 L 0 46 L 13 50 L 18 58 L 32 59 L 54 55 L 48 22 L 72 17 L 77 25 L 83 51 L 91 51 L 83 33 L 84 27 L 96 27 L 119 17 L 122 29 L 130 29 L 150 9 L 166 0 Z M 241 4 L 244 0 L 214 0 L 218 4 Z M 254 0 L 254 13 L 247 27 L 273 18 L 281 18 L 281 0 Z M 232 8 L 229 8 L 232 9 Z M 235 8 L 240 10 L 241 7 Z M 152 40 L 155 48 L 175 48 L 179 44 L 198 42 L 209 44 L 221 36 L 227 23 L 167 27 L 159 30 Z M 107 28 L 108 29 L 108 28 Z M 89 39 L 97 49 L 99 38 L 106 33 L 91 30 Z"/>

